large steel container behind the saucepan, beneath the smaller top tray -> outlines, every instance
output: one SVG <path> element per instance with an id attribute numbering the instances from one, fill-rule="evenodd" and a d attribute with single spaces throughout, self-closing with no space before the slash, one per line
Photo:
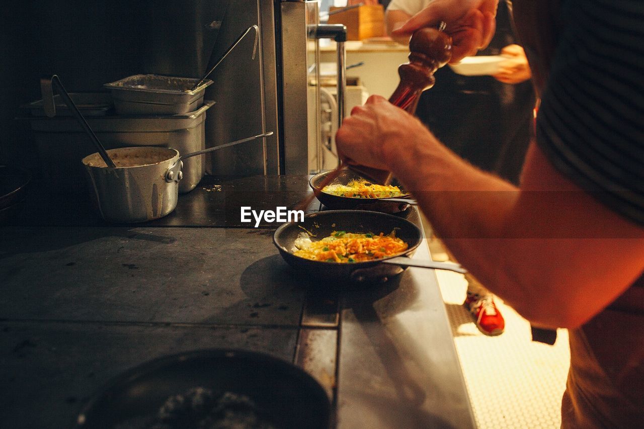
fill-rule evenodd
<path id="1" fill-rule="evenodd" d="M 183 115 L 121 116 L 87 118 L 106 149 L 128 146 L 162 146 L 181 155 L 205 149 L 204 120 L 214 101 Z M 29 117 L 46 182 L 63 192 L 86 191 L 81 159 L 95 151 L 81 126 L 71 117 Z M 184 162 L 179 192 L 194 189 L 205 172 L 204 157 Z"/>

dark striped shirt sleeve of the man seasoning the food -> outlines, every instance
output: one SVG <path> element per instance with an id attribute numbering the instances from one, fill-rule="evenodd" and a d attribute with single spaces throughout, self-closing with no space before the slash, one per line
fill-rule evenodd
<path id="1" fill-rule="evenodd" d="M 553 165 L 644 225 L 644 1 L 564 0 L 536 120 Z"/>

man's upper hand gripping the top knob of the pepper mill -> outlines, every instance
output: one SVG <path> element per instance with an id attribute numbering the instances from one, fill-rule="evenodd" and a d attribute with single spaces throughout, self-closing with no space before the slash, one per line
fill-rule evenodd
<path id="1" fill-rule="evenodd" d="M 392 37 L 408 36 L 419 28 L 435 27 L 444 21 L 445 32 L 452 39 L 450 62 L 459 62 L 488 46 L 495 31 L 497 5 L 498 0 L 435 0 L 393 31 Z"/>

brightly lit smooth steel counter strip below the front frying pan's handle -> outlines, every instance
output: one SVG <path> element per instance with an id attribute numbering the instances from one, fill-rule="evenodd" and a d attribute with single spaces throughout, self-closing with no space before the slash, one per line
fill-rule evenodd
<path id="1" fill-rule="evenodd" d="M 475 427 L 433 270 L 388 283 L 343 294 L 338 427 Z"/>

